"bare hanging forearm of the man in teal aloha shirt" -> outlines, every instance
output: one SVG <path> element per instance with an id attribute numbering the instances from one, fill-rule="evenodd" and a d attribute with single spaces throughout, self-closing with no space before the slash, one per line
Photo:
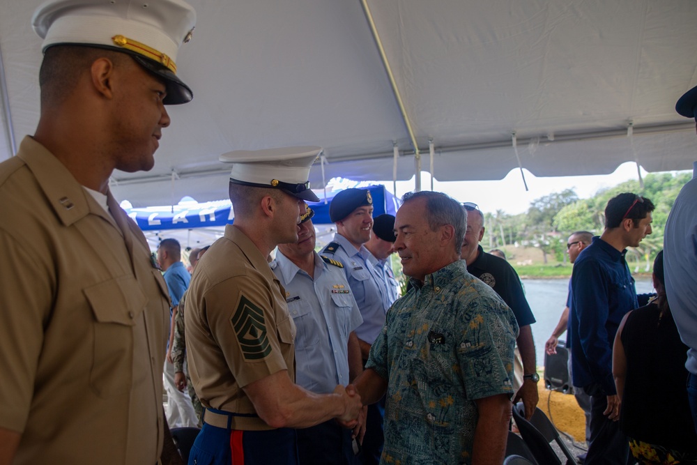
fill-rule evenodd
<path id="1" fill-rule="evenodd" d="M 500 394 L 478 399 L 472 465 L 500 465 L 505 457 L 511 402 Z"/>

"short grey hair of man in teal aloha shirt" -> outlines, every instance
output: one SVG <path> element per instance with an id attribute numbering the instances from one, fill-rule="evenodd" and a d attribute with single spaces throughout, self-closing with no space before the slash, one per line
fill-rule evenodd
<path id="1" fill-rule="evenodd" d="M 436 231 L 445 224 L 450 224 L 455 229 L 455 250 L 460 253 L 467 229 L 467 215 L 465 215 L 464 208 L 457 200 L 443 194 L 443 192 L 430 190 L 407 192 L 401 201 L 406 204 L 406 202 L 415 199 L 426 199 L 426 221 L 431 231 Z"/>

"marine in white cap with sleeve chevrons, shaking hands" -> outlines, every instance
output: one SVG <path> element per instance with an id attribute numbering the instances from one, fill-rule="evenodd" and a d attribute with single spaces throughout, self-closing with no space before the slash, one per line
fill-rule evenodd
<path id="1" fill-rule="evenodd" d="M 197 265 L 187 294 L 185 339 L 194 388 L 206 407 L 190 463 L 296 464 L 296 432 L 332 418 L 356 425 L 360 399 L 337 385 L 314 394 L 294 384 L 296 327 L 268 264 L 298 240 L 309 168 L 319 147 L 233 152 L 235 222 Z M 302 211 L 301 211 L 302 210 Z"/>

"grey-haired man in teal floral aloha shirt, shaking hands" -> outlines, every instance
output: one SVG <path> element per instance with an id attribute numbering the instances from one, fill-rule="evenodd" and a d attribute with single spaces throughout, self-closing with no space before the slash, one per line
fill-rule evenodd
<path id="1" fill-rule="evenodd" d="M 440 192 L 404 196 L 395 250 L 413 289 L 390 308 L 355 381 L 364 403 L 387 392 L 381 464 L 500 464 L 518 325 L 459 260 L 462 206 Z"/>

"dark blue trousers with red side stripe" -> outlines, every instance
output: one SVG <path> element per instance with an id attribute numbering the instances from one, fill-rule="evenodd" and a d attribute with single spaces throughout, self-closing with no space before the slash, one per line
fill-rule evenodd
<path id="1" fill-rule="evenodd" d="M 296 430 L 241 431 L 204 423 L 189 465 L 298 465 Z"/>

